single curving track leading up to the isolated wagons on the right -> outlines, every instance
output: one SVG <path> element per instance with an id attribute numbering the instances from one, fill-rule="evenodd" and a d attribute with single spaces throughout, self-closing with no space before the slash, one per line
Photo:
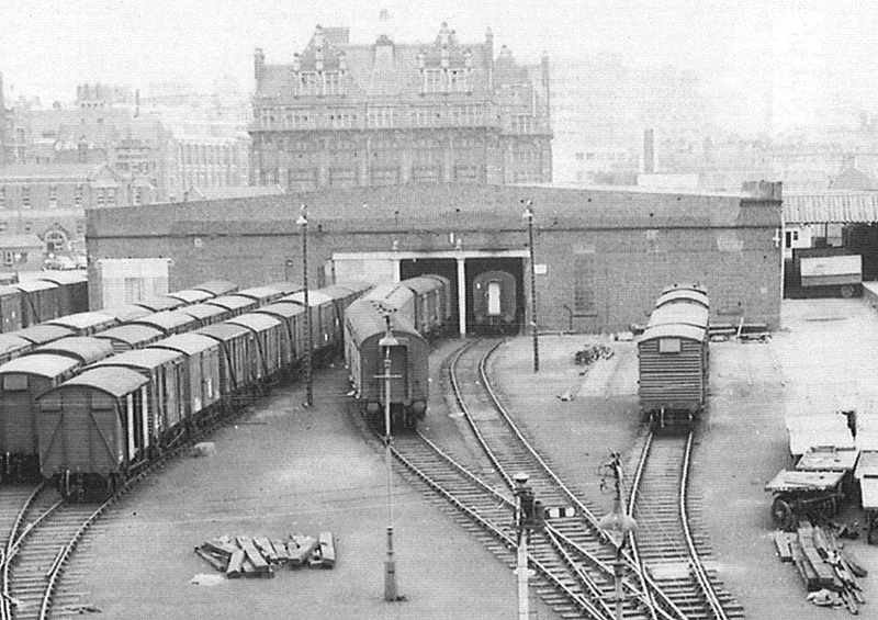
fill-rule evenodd
<path id="1" fill-rule="evenodd" d="M 710 550 L 689 522 L 693 437 L 646 436 L 629 496 L 628 511 L 638 522 L 629 539 L 632 553 L 687 618 L 743 618 L 743 607 L 705 566 Z"/>

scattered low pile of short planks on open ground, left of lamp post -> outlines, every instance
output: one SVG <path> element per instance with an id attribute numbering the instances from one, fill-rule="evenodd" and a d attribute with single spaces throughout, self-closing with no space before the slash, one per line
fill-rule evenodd
<path id="1" fill-rule="evenodd" d="M 336 543 L 331 532 L 317 538 L 290 534 L 285 539 L 222 536 L 195 548 L 195 554 L 226 577 L 273 577 L 274 566 L 331 568 Z"/>

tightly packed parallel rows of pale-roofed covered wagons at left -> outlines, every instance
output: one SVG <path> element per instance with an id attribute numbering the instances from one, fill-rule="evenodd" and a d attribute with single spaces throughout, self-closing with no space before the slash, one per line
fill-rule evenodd
<path id="1" fill-rule="evenodd" d="M 112 492 L 301 369 L 308 341 L 315 363 L 331 358 L 370 289 L 308 291 L 309 339 L 301 285 L 223 281 L 9 335 L 26 345 L 0 365 L 0 475 L 53 478 L 65 497 Z"/>

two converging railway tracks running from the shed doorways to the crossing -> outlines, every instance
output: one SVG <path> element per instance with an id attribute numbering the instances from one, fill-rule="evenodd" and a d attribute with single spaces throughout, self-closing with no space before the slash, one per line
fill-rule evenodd
<path id="1" fill-rule="evenodd" d="M 531 533 L 532 589 L 563 618 L 614 618 L 616 546 L 588 508 L 529 447 L 493 394 L 484 365 L 498 345 L 496 340 L 468 343 L 450 364 L 460 408 L 493 471 L 482 466 L 480 474 L 471 473 L 419 433 L 394 437 L 394 458 L 405 466 L 409 481 L 431 497 L 441 497 L 453 518 L 510 567 L 516 561 L 517 533 L 511 478 L 519 471 L 528 472 L 547 505 L 564 501 L 576 509 L 575 516 L 553 519 Z M 623 560 L 626 618 L 686 618 L 630 556 Z"/>

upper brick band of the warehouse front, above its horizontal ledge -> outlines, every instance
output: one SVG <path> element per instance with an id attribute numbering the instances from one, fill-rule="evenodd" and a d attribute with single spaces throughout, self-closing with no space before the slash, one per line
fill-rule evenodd
<path id="1" fill-rule="evenodd" d="M 766 185 L 769 185 L 766 183 Z M 530 200 L 540 229 L 779 227 L 779 195 L 666 193 L 541 185 L 406 184 L 322 190 L 87 212 L 90 236 L 296 235 L 299 206 L 319 233 L 503 232 L 525 226 Z"/>

